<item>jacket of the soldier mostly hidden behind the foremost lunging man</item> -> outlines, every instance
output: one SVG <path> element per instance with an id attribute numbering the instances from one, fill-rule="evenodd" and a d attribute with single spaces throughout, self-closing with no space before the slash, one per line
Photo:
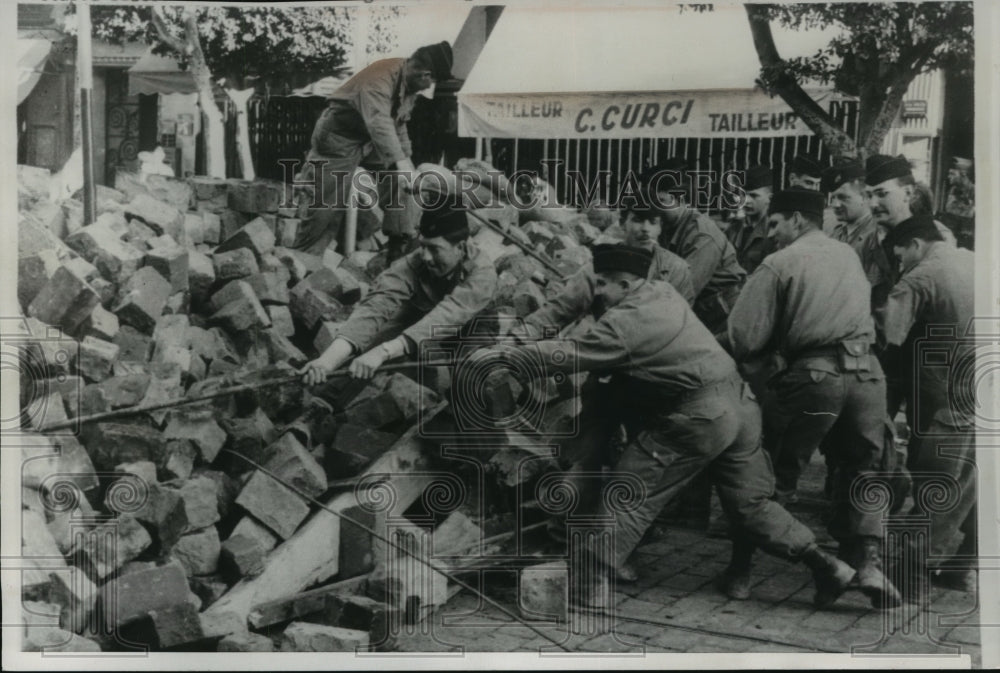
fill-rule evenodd
<path id="1" fill-rule="evenodd" d="M 653 262 L 649 266 L 649 280 L 666 281 L 690 305 L 694 302 L 694 287 L 687 262 L 665 248 L 653 247 Z M 590 310 L 594 302 L 593 264 L 587 264 L 567 280 L 563 288 L 524 321 L 536 335 L 545 327 L 562 328 Z"/>

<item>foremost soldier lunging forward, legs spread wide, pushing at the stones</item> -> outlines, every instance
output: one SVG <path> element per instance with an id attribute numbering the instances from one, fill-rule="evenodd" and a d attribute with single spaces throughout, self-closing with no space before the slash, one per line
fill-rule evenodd
<path id="1" fill-rule="evenodd" d="M 594 550 L 597 560 L 609 572 L 622 568 L 660 509 L 707 471 L 738 534 L 776 556 L 807 563 L 817 596 L 824 604 L 835 599 L 854 571 L 821 551 L 812 531 L 769 498 L 774 477 L 760 448 L 752 395 L 680 295 L 647 280 L 650 261 L 647 250 L 595 246 L 589 309 L 596 322 L 575 340 L 575 357 L 564 357 L 561 341 L 530 346 L 547 372 L 611 376 L 592 413 L 610 419 L 606 432 L 624 423 L 628 443 L 615 470 L 639 479 L 645 497 L 634 509 L 616 512 L 599 499 L 600 513 L 614 517 L 614 536 L 612 551 Z M 584 439 L 597 450 L 610 436 Z"/>

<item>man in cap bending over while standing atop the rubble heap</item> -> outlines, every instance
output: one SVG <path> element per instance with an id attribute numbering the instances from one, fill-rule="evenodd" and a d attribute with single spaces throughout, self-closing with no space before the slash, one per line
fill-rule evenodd
<path id="1" fill-rule="evenodd" d="M 440 42 L 420 47 L 407 59 L 375 61 L 330 94 L 329 105 L 313 128 L 306 164 L 296 176 L 300 185 L 313 183 L 322 205 L 310 208 L 296 248 L 322 255 L 336 239 L 344 219 L 350 176 L 358 166 L 400 171 L 404 187 L 413 181 L 416 167 L 410 158 L 406 125 L 418 93 L 450 79 L 451 64 L 451 46 Z M 379 178 L 380 202 L 401 201 L 403 206 L 383 209 L 382 230 L 389 236 L 390 257 L 395 259 L 416 234 L 420 207 L 409 195 L 391 198 L 399 181 Z M 315 203 L 312 199 L 309 202 Z"/>

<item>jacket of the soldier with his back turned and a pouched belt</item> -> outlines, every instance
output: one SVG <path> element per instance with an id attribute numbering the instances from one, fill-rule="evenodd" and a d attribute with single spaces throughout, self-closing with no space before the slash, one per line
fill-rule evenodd
<path id="1" fill-rule="evenodd" d="M 848 339 L 874 341 L 868 281 L 854 251 L 812 231 L 768 255 L 729 315 L 736 359 L 777 349 L 789 360 Z"/>

